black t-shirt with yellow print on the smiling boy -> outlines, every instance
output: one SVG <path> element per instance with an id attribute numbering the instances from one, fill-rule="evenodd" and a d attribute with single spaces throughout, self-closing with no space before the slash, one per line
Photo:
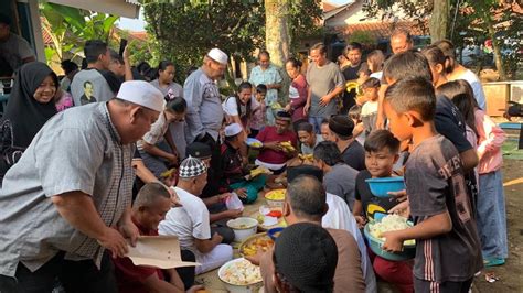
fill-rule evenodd
<path id="1" fill-rule="evenodd" d="M 388 213 L 391 208 L 399 204 L 394 197 L 377 197 L 371 193 L 369 183 L 365 180 L 371 178 L 371 173 L 367 170 L 360 171 L 356 176 L 355 198 L 360 200 L 363 206 L 363 213 L 367 219 L 374 218 L 374 213 Z"/>

